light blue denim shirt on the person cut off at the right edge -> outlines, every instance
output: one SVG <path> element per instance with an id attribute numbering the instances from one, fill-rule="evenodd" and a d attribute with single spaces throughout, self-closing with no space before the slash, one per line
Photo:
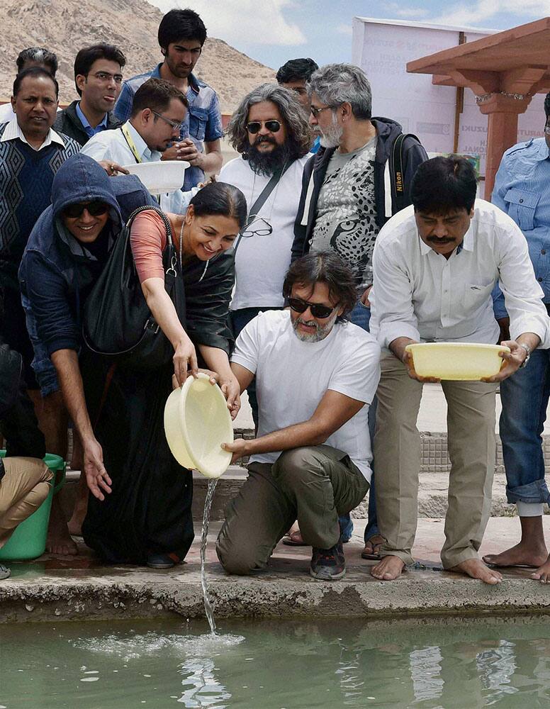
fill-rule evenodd
<path id="1" fill-rule="evenodd" d="M 544 138 L 510 147 L 495 177 L 491 201 L 520 227 L 534 274 L 550 303 L 550 157 Z M 496 318 L 507 316 L 503 294 L 493 292 Z"/>

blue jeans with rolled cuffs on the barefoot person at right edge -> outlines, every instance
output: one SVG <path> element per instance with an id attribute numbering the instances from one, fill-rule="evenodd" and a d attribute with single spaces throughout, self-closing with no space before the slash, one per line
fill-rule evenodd
<path id="1" fill-rule="evenodd" d="M 500 383 L 500 439 L 509 503 L 550 501 L 542 432 L 550 397 L 550 350 L 534 350 L 524 369 Z"/>

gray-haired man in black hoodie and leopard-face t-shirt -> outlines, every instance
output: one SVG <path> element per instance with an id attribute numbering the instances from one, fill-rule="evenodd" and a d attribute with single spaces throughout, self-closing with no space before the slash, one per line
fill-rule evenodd
<path id="1" fill-rule="evenodd" d="M 371 85 L 359 67 L 321 67 L 307 88 L 310 125 L 320 130 L 321 149 L 304 168 L 292 258 L 310 250 L 335 250 L 356 277 L 357 306 L 349 319 L 369 330 L 376 235 L 410 204 L 412 176 L 427 154 L 414 135 L 403 136 L 399 123 L 371 117 Z M 375 411 L 371 408 L 371 418 Z M 349 523 L 344 540 L 352 529 Z M 378 558 L 381 542 L 371 488 L 364 558 Z"/>

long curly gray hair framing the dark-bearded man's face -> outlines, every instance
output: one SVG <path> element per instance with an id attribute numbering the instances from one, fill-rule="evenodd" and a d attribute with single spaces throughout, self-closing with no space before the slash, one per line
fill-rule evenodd
<path id="1" fill-rule="evenodd" d="M 286 126 L 287 141 L 293 157 L 298 158 L 306 155 L 313 142 L 308 118 L 305 116 L 303 106 L 298 101 L 296 93 L 277 84 L 262 84 L 242 99 L 228 124 L 227 135 L 232 147 L 240 155 L 247 152 L 250 147 L 247 131 L 248 113 L 251 106 L 261 104 L 262 101 L 271 101 L 279 108 L 279 113 L 281 113 L 281 118 Z"/>

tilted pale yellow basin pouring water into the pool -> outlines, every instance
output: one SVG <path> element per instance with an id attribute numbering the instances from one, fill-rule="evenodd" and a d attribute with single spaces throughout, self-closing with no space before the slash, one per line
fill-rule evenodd
<path id="1" fill-rule="evenodd" d="M 164 406 L 164 432 L 172 455 L 207 478 L 219 478 L 231 462 L 220 445 L 233 440 L 233 426 L 225 396 L 206 374 L 189 376 L 174 389 Z"/>

